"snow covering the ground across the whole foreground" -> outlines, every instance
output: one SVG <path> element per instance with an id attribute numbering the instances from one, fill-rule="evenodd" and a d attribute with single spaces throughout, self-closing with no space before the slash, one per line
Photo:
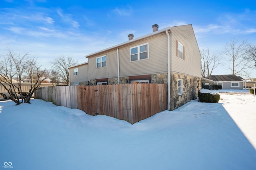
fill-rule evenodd
<path id="1" fill-rule="evenodd" d="M 256 97 L 220 98 L 134 125 L 38 99 L 1 101 L 0 169 L 255 170 Z"/>

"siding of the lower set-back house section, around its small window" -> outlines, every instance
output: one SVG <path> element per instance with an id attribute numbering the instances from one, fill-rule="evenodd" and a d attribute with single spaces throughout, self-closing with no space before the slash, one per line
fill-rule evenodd
<path id="1" fill-rule="evenodd" d="M 78 75 L 74 75 L 74 69 L 78 68 Z M 72 67 L 70 70 L 70 83 L 88 81 L 88 63 Z"/>

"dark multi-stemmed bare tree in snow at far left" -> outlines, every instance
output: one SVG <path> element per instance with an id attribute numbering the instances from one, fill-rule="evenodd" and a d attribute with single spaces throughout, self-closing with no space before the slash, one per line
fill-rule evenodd
<path id="1" fill-rule="evenodd" d="M 8 53 L 6 55 L 1 56 L 0 60 L 0 84 L 8 91 L 12 101 L 19 105 L 20 103 L 30 103 L 30 98 L 33 95 L 36 88 L 39 86 L 39 77 L 40 73 L 36 72 L 39 70 L 39 67 L 36 65 L 36 58 L 30 57 L 29 53 L 24 53 L 21 55 L 20 53 L 13 53 L 8 49 Z M 26 75 L 31 79 L 36 79 L 36 83 L 30 84 L 30 90 L 26 93 L 26 97 L 24 97 L 24 93 L 22 91 L 22 77 Z M 17 80 L 14 80 L 16 77 Z M 21 97 L 21 101 L 18 97 Z"/>

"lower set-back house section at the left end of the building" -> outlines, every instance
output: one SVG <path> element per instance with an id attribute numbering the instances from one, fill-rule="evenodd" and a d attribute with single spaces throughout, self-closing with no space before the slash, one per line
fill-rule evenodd
<path id="1" fill-rule="evenodd" d="M 70 72 L 70 85 L 89 85 L 88 62 L 68 67 Z"/>

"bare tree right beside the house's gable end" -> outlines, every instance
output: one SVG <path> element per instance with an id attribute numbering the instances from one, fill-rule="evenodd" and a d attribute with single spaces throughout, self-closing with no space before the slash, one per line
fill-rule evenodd
<path id="1" fill-rule="evenodd" d="M 212 71 L 220 65 L 220 53 L 211 53 L 209 48 L 200 51 L 202 56 L 201 71 L 202 77 L 212 75 Z"/>

